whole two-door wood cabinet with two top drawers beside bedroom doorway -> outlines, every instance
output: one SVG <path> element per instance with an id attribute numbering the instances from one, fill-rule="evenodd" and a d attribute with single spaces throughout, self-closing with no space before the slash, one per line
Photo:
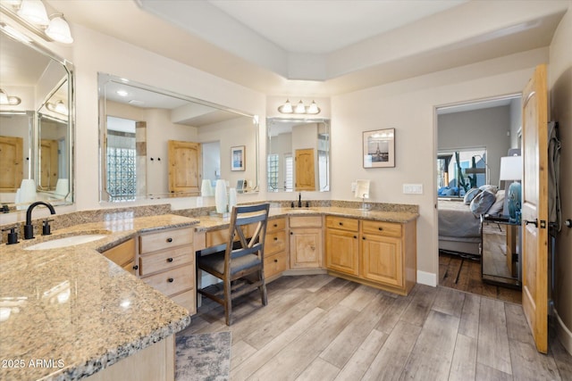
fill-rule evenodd
<path id="1" fill-rule="evenodd" d="M 416 221 L 328 216 L 325 258 L 332 275 L 408 294 L 416 284 Z"/>

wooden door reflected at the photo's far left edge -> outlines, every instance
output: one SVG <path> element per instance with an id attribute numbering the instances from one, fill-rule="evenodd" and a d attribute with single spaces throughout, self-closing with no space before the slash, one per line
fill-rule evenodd
<path id="1" fill-rule="evenodd" d="M 23 178 L 23 139 L 0 137 L 0 192 L 16 192 Z"/>

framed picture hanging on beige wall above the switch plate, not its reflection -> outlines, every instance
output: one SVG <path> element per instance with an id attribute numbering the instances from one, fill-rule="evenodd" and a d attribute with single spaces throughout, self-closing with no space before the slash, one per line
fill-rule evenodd
<path id="1" fill-rule="evenodd" d="M 395 167 L 395 128 L 363 132 L 364 168 Z"/>

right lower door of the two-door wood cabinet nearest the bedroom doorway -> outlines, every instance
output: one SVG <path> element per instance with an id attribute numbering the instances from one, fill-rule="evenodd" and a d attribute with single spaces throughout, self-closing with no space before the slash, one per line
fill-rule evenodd
<path id="1" fill-rule="evenodd" d="M 392 236 L 362 236 L 362 277 L 403 286 L 401 240 Z"/>

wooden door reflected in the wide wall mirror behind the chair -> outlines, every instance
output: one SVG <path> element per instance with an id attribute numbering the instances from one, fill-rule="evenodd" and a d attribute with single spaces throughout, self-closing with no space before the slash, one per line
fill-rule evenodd
<path id="1" fill-rule="evenodd" d="M 169 140 L 169 192 L 198 193 L 201 183 L 201 146 Z"/>

